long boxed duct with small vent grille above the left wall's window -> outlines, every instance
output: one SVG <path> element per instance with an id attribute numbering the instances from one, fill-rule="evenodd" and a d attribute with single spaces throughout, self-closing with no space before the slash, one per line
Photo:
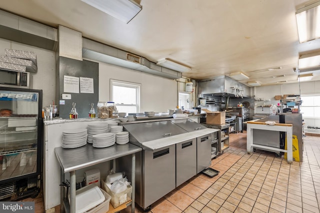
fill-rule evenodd
<path id="1" fill-rule="evenodd" d="M 158 66 L 144 57 L 87 38 L 82 39 L 82 57 L 169 79 L 182 77 L 181 72 Z"/>

